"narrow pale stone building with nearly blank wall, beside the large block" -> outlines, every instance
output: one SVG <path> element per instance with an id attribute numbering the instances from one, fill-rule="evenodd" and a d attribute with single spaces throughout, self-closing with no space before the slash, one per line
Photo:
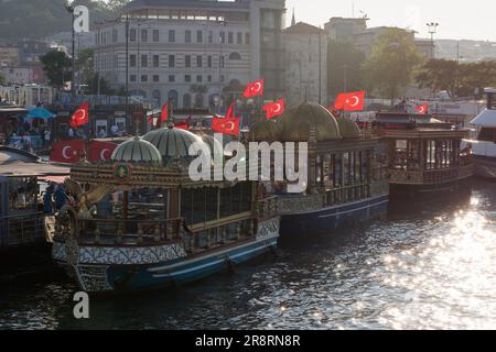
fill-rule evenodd
<path id="1" fill-rule="evenodd" d="M 284 30 L 289 106 L 327 101 L 327 33 L 316 26 L 299 22 Z"/>

